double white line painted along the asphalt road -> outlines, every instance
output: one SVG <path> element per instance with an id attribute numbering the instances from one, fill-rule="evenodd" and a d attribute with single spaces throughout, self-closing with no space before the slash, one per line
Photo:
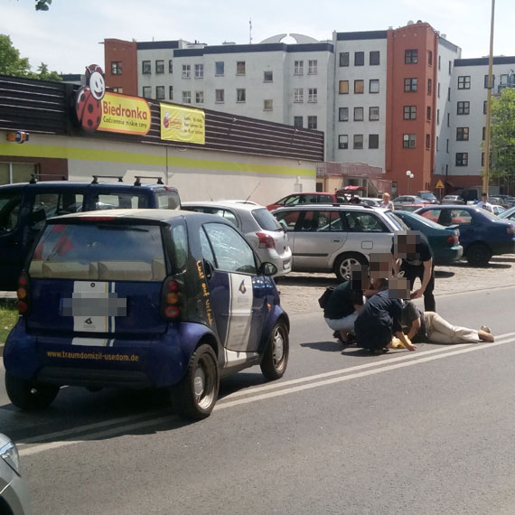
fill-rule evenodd
<path id="1" fill-rule="evenodd" d="M 465 344 L 465 345 L 459 345 L 459 349 L 456 349 L 456 346 L 454 345 L 453 347 L 451 347 L 450 351 L 443 351 L 443 350 L 441 351 L 440 349 L 435 349 L 432 351 L 426 351 L 426 352 L 422 352 L 422 353 L 418 353 L 418 354 L 415 352 L 409 353 L 409 354 L 406 354 L 406 355 L 403 355 L 403 356 L 397 358 L 394 363 L 392 363 L 391 360 L 381 360 L 381 361 L 375 362 L 375 363 L 366 363 L 363 365 L 358 365 L 357 367 L 351 367 L 350 369 L 334 370 L 332 372 L 327 372 L 325 374 L 317 374 L 316 376 L 311 376 L 310 378 L 292 379 L 291 381 L 286 381 L 284 383 L 276 383 L 277 389 L 283 387 L 282 389 L 279 389 L 278 391 L 269 391 L 268 393 L 263 393 L 261 395 L 252 395 L 254 392 L 263 391 L 263 389 L 266 388 L 266 387 L 257 387 L 257 389 L 247 392 L 247 394 L 252 395 L 251 397 L 240 398 L 240 399 L 235 399 L 235 400 L 228 400 L 228 401 L 220 401 L 220 403 L 218 403 L 215 406 L 214 411 L 220 411 L 221 409 L 226 409 L 228 407 L 235 407 L 235 406 L 240 406 L 243 404 L 249 404 L 251 402 L 256 402 L 258 400 L 264 400 L 264 399 L 268 399 L 268 398 L 276 398 L 276 397 L 280 397 L 283 395 L 289 395 L 292 393 L 303 391 L 305 389 L 314 389 L 314 388 L 332 385 L 332 384 L 343 382 L 343 381 L 348 381 L 351 379 L 358 379 L 358 378 L 362 378 L 362 377 L 366 377 L 366 376 L 372 376 L 372 375 L 376 375 L 376 374 L 379 374 L 379 373 L 382 373 L 385 371 L 389 371 L 389 370 L 402 369 L 402 368 L 410 367 L 412 365 L 418 365 L 418 364 L 426 363 L 429 361 L 440 360 L 443 358 L 447 358 L 449 356 L 456 356 L 458 354 L 465 354 L 465 353 L 473 352 L 473 351 L 488 350 L 488 349 L 491 349 L 492 347 L 497 347 L 500 345 L 504 345 L 506 343 L 515 342 L 515 338 L 512 338 L 513 335 L 515 335 L 515 332 L 508 332 L 508 333 L 496 336 L 496 338 L 498 340 L 497 342 L 484 343 L 484 344 L 470 343 L 470 344 Z M 501 340 L 501 341 L 499 341 L 499 340 Z M 448 349 L 448 348 L 445 348 L 445 349 Z M 439 352 L 437 352 L 437 351 L 439 351 Z M 415 359 L 405 361 L 407 359 L 407 357 L 409 357 L 409 358 L 414 357 Z M 376 366 L 376 368 L 373 370 L 362 370 L 362 369 L 365 369 L 366 367 L 371 367 L 374 365 Z M 350 370 L 361 370 L 361 371 L 347 374 Z M 340 377 L 333 377 L 331 379 L 314 380 L 314 378 L 321 379 L 323 377 L 328 377 L 328 375 L 330 376 L 330 375 L 335 375 L 338 373 L 347 374 L 347 375 L 341 375 Z M 286 388 L 286 389 L 284 388 L 285 386 L 287 387 L 288 385 L 295 384 L 295 382 L 299 382 L 299 381 L 304 382 L 306 380 L 312 380 L 312 382 L 310 382 L 308 384 L 304 384 L 304 385 L 298 385 L 298 386 L 295 386 L 292 388 Z M 267 385 L 267 386 L 272 386 L 272 385 Z M 275 384 L 274 384 L 274 386 L 275 386 Z M 238 396 L 236 394 L 232 394 L 232 396 L 229 396 L 229 399 L 234 398 L 234 397 L 238 397 Z M 130 417 L 126 417 L 126 418 L 130 418 Z M 147 420 L 144 420 L 141 422 L 136 422 L 134 424 L 128 424 L 126 426 L 111 427 L 105 431 L 100 431 L 98 433 L 91 433 L 89 435 L 85 435 L 81 438 L 81 440 L 64 440 L 64 441 L 60 441 L 60 442 L 50 442 L 50 443 L 42 444 L 42 445 L 36 444 L 36 445 L 30 446 L 30 447 L 23 447 L 23 444 L 20 444 L 19 452 L 22 456 L 23 455 L 40 454 L 45 451 L 50 451 L 52 449 L 58 449 L 58 448 L 61 448 L 61 447 L 67 446 L 67 445 L 80 444 L 84 441 L 96 440 L 98 438 L 103 438 L 103 437 L 107 437 L 110 435 L 119 435 L 120 433 L 133 431 L 133 430 L 141 428 L 141 427 L 156 426 L 159 424 L 164 424 L 166 422 L 172 421 L 173 419 L 174 419 L 174 416 L 170 415 L 169 417 L 160 417 L 160 418 L 155 418 L 155 419 L 150 419 L 150 420 L 147 419 Z M 123 419 L 118 419 L 118 420 L 123 420 Z M 112 425 L 113 423 L 116 423 L 116 421 L 115 422 L 109 421 L 108 423 L 92 424 L 92 425 L 89 425 L 89 427 L 100 426 L 102 424 Z M 88 426 L 78 427 L 78 428 L 74 429 L 73 432 L 75 432 L 75 433 L 82 432 L 82 431 L 84 431 L 84 427 L 88 427 Z M 66 432 L 65 431 L 61 432 L 61 434 L 64 434 L 64 433 L 66 433 Z M 71 434 L 71 431 L 70 431 L 70 434 Z M 50 436 L 50 435 L 42 435 L 41 438 L 45 438 L 48 436 Z"/>

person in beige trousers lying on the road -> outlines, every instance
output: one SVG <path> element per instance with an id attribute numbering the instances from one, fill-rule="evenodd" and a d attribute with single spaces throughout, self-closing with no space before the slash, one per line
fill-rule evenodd
<path id="1" fill-rule="evenodd" d="M 490 328 L 482 325 L 481 329 L 468 329 L 448 323 L 433 311 L 422 313 L 411 301 L 402 308 L 402 327 L 411 342 L 435 343 L 477 343 L 493 342 Z"/>

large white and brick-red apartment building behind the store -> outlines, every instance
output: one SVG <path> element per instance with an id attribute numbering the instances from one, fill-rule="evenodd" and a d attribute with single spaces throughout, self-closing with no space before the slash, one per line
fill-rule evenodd
<path id="1" fill-rule="evenodd" d="M 286 34 L 214 46 L 105 40 L 106 83 L 145 98 L 322 130 L 326 162 L 379 167 L 394 193 L 433 189 L 440 179 L 449 191 L 481 184 L 484 115 L 475 106 L 482 109 L 486 98 L 484 60 L 462 60 L 458 46 L 420 21 L 334 32 L 326 42 L 290 36 L 295 43 L 284 42 Z M 496 58 L 499 80 L 510 65 L 515 58 Z M 136 83 L 122 84 L 135 69 Z M 471 87 L 459 77 L 469 77 Z M 474 107 L 464 118 L 466 102 Z"/>

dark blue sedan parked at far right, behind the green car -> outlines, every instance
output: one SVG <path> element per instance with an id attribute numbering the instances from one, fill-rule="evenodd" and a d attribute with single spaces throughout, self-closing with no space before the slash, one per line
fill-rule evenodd
<path id="1" fill-rule="evenodd" d="M 475 206 L 426 206 L 415 211 L 448 227 L 457 224 L 463 255 L 474 267 L 488 265 L 493 255 L 515 252 L 515 224 Z"/>

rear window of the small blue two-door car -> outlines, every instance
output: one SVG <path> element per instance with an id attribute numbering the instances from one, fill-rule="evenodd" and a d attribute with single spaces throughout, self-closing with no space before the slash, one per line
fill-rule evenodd
<path id="1" fill-rule="evenodd" d="M 36 246 L 33 277 L 99 281 L 163 281 L 161 229 L 156 225 L 49 224 Z"/>

